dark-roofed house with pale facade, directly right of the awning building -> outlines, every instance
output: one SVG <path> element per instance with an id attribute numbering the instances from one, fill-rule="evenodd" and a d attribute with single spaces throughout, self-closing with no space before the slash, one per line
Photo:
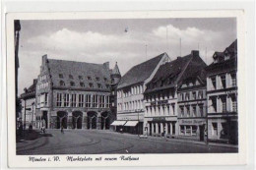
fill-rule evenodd
<path id="1" fill-rule="evenodd" d="M 178 87 L 183 81 L 198 72 L 205 63 L 199 51 L 191 51 L 184 57 L 165 63 L 147 84 L 145 95 L 145 133 L 151 136 L 177 137 L 178 126 Z"/>

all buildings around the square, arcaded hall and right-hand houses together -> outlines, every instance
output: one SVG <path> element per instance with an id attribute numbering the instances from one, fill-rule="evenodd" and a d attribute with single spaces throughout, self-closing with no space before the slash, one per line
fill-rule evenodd
<path id="1" fill-rule="evenodd" d="M 22 122 L 237 143 L 237 41 L 213 58 L 207 66 L 196 50 L 172 61 L 162 53 L 121 77 L 117 63 L 109 69 L 108 62 L 44 55 L 39 76 L 21 95 Z"/>

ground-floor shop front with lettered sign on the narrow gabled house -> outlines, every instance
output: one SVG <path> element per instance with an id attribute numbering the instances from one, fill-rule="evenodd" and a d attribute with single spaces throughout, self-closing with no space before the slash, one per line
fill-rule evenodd
<path id="1" fill-rule="evenodd" d="M 178 119 L 179 139 L 205 141 L 206 119 Z"/>

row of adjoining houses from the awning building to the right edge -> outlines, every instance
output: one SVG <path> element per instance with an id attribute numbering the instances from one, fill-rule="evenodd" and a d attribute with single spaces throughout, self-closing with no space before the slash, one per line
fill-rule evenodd
<path id="1" fill-rule="evenodd" d="M 199 51 L 163 53 L 134 66 L 117 88 L 115 130 L 237 143 L 237 41 L 213 58 L 207 66 Z"/>

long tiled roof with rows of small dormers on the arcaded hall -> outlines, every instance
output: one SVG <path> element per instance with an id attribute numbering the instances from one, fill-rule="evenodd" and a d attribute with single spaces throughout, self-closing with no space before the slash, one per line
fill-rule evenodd
<path id="1" fill-rule="evenodd" d="M 64 87 L 68 88 L 109 90 L 110 71 L 104 64 L 48 59 L 48 67 L 55 87 L 60 87 L 60 82 L 63 81 L 65 83 Z M 62 78 L 60 75 L 62 75 Z M 88 79 L 88 77 L 91 79 Z M 75 85 L 71 86 L 71 82 Z M 97 85 L 101 86 L 98 87 Z"/>

